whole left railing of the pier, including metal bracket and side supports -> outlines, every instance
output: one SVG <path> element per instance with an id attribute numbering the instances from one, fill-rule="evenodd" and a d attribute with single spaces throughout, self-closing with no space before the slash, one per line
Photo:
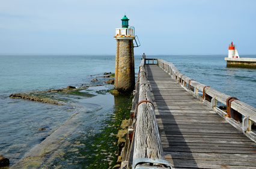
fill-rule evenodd
<path id="1" fill-rule="evenodd" d="M 128 136 L 123 153 L 122 166 L 130 168 L 172 168 L 165 161 L 160 140 L 159 128 L 147 82 L 144 68 L 145 60 L 139 65 L 138 79 L 135 85 L 133 106 L 131 112 L 132 123 L 128 128 Z"/>

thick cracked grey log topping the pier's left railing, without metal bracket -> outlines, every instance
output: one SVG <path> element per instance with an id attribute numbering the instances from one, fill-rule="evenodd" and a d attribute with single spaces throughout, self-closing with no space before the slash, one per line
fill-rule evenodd
<path id="1" fill-rule="evenodd" d="M 139 101 L 135 137 L 133 137 L 133 161 L 137 158 L 165 159 L 144 67 L 140 68 L 139 77 Z"/>

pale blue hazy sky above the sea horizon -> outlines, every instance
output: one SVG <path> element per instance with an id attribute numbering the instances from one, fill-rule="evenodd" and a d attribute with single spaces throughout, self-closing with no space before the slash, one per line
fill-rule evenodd
<path id="1" fill-rule="evenodd" d="M 135 55 L 256 54 L 255 0 L 0 0 L 0 53 L 115 55 L 124 14 Z"/>

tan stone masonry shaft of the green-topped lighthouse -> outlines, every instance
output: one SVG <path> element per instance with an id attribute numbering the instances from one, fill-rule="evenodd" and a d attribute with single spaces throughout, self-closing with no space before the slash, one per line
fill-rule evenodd
<path id="1" fill-rule="evenodd" d="M 133 40 L 117 40 L 115 89 L 130 91 L 135 86 Z"/>

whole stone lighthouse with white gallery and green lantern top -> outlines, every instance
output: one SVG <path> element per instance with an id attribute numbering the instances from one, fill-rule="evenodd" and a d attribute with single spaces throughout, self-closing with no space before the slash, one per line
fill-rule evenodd
<path id="1" fill-rule="evenodd" d="M 122 28 L 115 29 L 117 49 L 115 54 L 115 92 L 130 92 L 135 87 L 133 29 L 129 28 L 129 19 L 124 15 Z"/>

